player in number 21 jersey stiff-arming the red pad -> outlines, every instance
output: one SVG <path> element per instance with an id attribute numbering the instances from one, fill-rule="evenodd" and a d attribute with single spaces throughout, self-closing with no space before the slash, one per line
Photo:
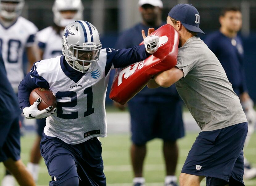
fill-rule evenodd
<path id="1" fill-rule="evenodd" d="M 149 29 L 148 34 L 152 31 Z M 137 45 L 101 50 L 97 29 L 87 21 L 75 21 L 64 30 L 64 55 L 35 63 L 22 80 L 19 103 L 26 118 L 48 116 L 40 149 L 52 177 L 49 185 L 106 185 L 97 137 L 107 135 L 105 95 L 109 72 L 146 59 L 157 50 L 159 37 L 146 37 L 144 44 L 148 45 L 146 49 Z M 55 93 L 56 113 L 37 110 L 40 99 L 30 106 L 29 95 L 36 87 Z"/>

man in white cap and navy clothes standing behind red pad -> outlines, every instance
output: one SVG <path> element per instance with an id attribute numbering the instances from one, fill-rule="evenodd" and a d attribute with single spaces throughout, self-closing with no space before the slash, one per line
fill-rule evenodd
<path id="1" fill-rule="evenodd" d="M 150 27 L 158 29 L 165 24 L 161 17 L 163 8 L 161 0 L 140 0 L 138 4 L 142 22 L 124 31 L 119 36 L 115 48 L 130 48 L 138 45 L 143 40 L 142 29 L 147 30 Z M 118 103 L 115 105 L 122 108 Z M 132 146 L 130 154 L 134 171 L 134 185 L 144 185 L 142 168 L 147 152 L 146 143 L 154 138 L 163 139 L 166 167 L 165 185 L 177 185 L 175 169 L 178 160 L 178 145 L 176 140 L 184 136 L 184 126 L 182 101 L 175 85 L 157 89 L 145 87 L 128 102 L 128 107 L 131 116 Z"/>

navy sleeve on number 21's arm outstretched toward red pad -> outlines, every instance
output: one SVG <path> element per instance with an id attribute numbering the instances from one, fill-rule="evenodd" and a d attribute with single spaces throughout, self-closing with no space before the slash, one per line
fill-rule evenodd
<path id="1" fill-rule="evenodd" d="M 105 73 L 107 74 L 111 69 L 112 64 L 114 68 L 126 67 L 130 64 L 134 64 L 138 61 L 145 60 L 151 54 L 146 52 L 144 45 L 137 45 L 133 48 L 124 49 L 112 49 L 107 48 L 107 63 Z"/>

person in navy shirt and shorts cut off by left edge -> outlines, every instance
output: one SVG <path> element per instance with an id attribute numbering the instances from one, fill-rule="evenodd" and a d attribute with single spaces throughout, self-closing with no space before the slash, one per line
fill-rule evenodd
<path id="1" fill-rule="evenodd" d="M 0 162 L 4 163 L 20 185 L 33 186 L 35 182 L 20 160 L 20 109 L 17 96 L 6 76 L 1 50 L 0 79 Z"/>

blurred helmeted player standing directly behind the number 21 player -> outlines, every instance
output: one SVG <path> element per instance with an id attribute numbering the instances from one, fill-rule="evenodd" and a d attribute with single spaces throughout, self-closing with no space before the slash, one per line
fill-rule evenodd
<path id="1" fill-rule="evenodd" d="M 83 4 L 81 0 L 55 0 L 52 12 L 54 25 L 49 26 L 36 34 L 36 41 L 40 48 L 41 59 L 49 59 L 62 55 L 61 35 L 69 23 L 83 19 Z M 38 180 L 40 154 L 40 141 L 45 127 L 45 119 L 36 121 L 37 138 L 32 146 L 28 170 L 35 181 Z"/>

